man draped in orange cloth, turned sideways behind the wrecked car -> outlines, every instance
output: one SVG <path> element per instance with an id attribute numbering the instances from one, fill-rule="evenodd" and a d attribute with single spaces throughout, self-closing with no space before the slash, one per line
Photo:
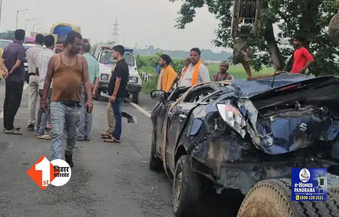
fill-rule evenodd
<path id="1" fill-rule="evenodd" d="M 172 59 L 168 55 L 161 55 L 159 59 L 159 65 L 162 67 L 162 70 L 159 74 L 158 80 L 158 90 L 163 90 L 169 92 L 173 87 L 173 84 L 178 81 L 178 74 L 170 65 Z"/>

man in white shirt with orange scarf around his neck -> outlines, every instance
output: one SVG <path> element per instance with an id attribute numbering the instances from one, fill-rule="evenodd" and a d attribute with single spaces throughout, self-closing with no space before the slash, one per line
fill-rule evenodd
<path id="1" fill-rule="evenodd" d="M 210 81 L 208 69 L 201 63 L 200 55 L 201 51 L 199 48 L 191 49 L 191 64 L 182 73 L 179 87 L 191 87 L 198 83 Z"/>

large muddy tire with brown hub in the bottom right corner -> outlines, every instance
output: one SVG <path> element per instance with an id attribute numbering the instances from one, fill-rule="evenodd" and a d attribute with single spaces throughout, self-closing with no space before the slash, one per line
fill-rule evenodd
<path id="1" fill-rule="evenodd" d="M 327 201 L 291 201 L 291 180 L 271 179 L 254 185 L 242 201 L 237 217 L 337 216 L 336 199 Z"/>

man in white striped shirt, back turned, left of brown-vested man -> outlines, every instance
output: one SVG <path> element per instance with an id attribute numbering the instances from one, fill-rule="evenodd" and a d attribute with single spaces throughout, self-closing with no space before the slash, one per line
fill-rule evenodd
<path id="1" fill-rule="evenodd" d="M 44 84 L 45 84 L 45 79 L 47 75 L 47 69 L 48 65 L 50 62 L 51 57 L 55 54 L 53 51 L 54 48 L 54 36 L 53 35 L 48 35 L 44 39 L 44 43 L 46 46 L 46 49 L 39 53 L 36 61 L 36 74 L 39 76 L 39 96 L 40 100 L 41 97 L 43 97 L 43 90 L 44 90 Z M 51 89 L 48 92 L 48 102 L 49 104 L 49 99 L 51 98 Z M 43 111 L 39 108 L 39 112 L 37 115 L 37 127 L 36 127 L 36 138 L 38 139 L 47 139 L 51 140 L 52 137 L 46 133 L 45 127 L 47 123 L 47 119 L 49 116 L 49 106 L 46 107 L 46 110 Z"/>

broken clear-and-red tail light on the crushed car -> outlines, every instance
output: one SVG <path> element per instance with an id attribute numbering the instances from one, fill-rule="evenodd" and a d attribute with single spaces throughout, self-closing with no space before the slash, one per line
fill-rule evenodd
<path id="1" fill-rule="evenodd" d="M 218 104 L 217 107 L 222 119 L 244 138 L 246 121 L 240 111 L 232 105 Z"/>

